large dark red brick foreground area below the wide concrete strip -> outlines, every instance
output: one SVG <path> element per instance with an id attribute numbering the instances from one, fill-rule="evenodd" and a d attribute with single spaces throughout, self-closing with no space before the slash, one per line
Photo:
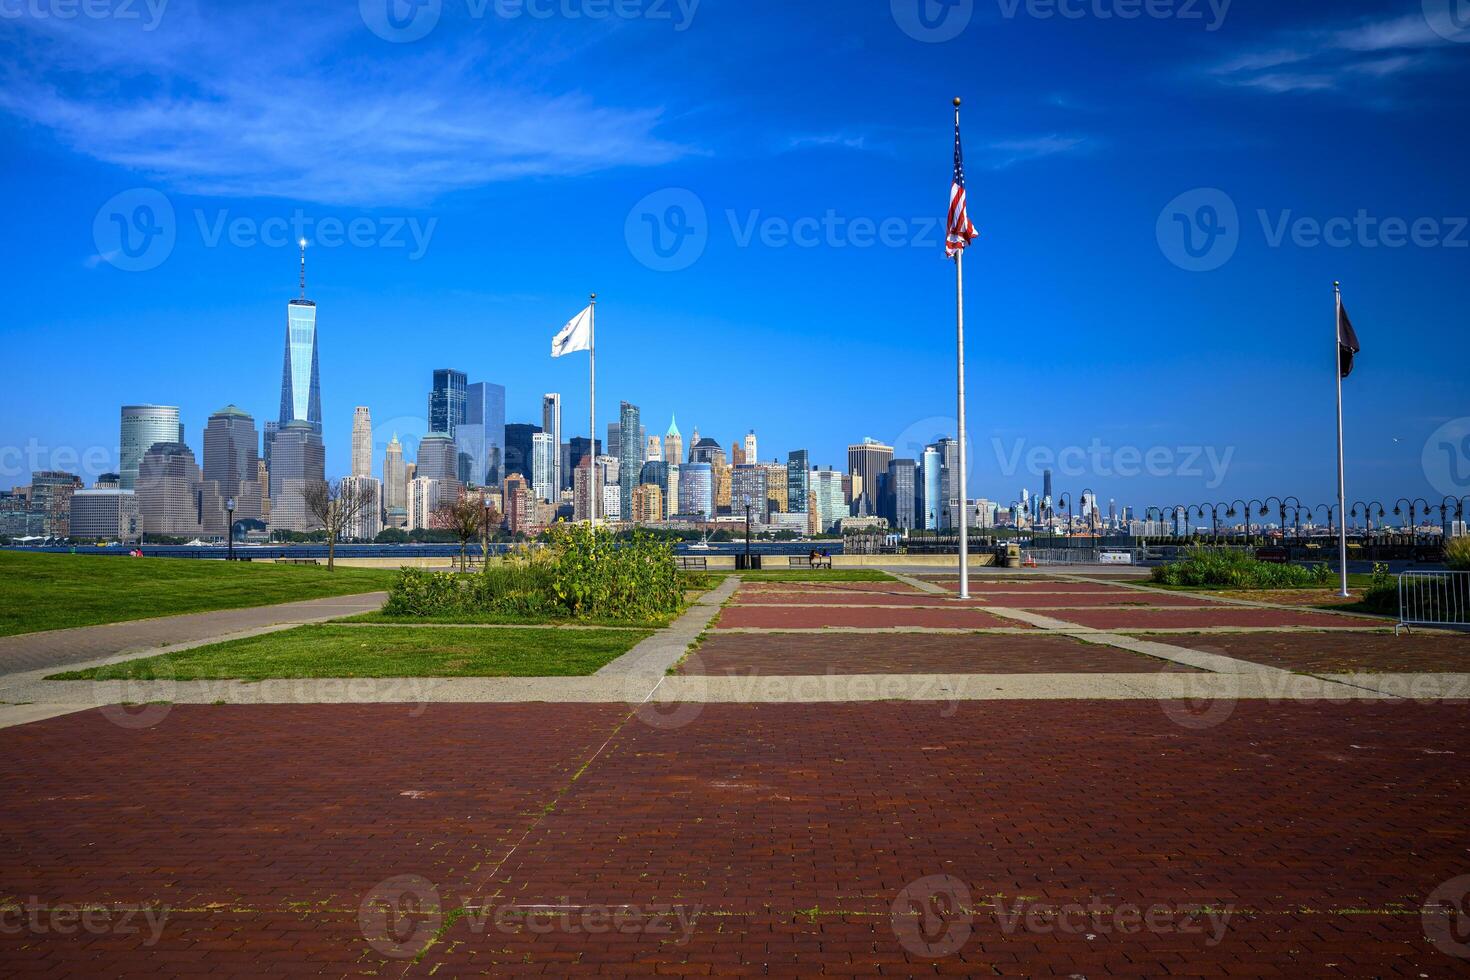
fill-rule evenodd
<path id="1" fill-rule="evenodd" d="M 622 716 L 200 705 L 148 733 L 96 713 L 12 729 L 0 774 L 6 895 L 190 896 L 191 908 L 165 920 L 154 946 L 146 929 L 57 934 L 15 930 L 12 917 L 0 967 L 153 977 L 1467 968 L 1430 945 L 1419 914 L 1467 871 L 1464 704 L 1241 702 L 1208 729 L 1180 727 L 1154 702 L 710 704 L 679 729 L 617 729 Z M 404 874 L 437 896 L 404 924 L 444 930 L 417 962 L 385 958 L 390 936 L 369 946 L 359 923 L 369 883 Z M 950 879 L 910 887 L 929 876 Z M 963 886 L 975 912 L 900 914 L 895 929 L 895 901 L 936 884 Z M 498 920 L 479 912 L 507 902 Z M 432 914 L 466 904 L 469 915 Z M 1104 909 L 1100 926 L 1048 914 L 1067 904 Z M 541 905 L 579 908 L 525 918 Z M 587 905 L 617 907 L 629 932 L 606 932 L 612 920 L 588 918 Z M 1195 905 L 1233 908 L 1220 942 L 1194 932 L 1185 908 Z M 692 934 L 666 907 L 698 912 Z M 1154 927 L 1141 930 L 1132 909 L 1154 912 Z"/>

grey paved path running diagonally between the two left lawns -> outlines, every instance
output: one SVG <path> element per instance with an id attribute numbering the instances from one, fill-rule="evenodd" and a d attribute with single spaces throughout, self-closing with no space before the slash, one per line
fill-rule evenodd
<path id="1" fill-rule="evenodd" d="M 243 610 L 190 613 L 128 623 L 0 636 L 0 676 L 82 664 L 121 654 L 159 652 L 163 648 L 184 649 L 272 627 L 301 626 L 303 623 L 320 623 L 343 616 L 372 613 L 381 608 L 387 598 L 387 592 L 366 592 Z"/>

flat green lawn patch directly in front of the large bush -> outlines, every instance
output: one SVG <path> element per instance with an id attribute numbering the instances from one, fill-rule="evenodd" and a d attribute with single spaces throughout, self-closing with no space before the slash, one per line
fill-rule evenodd
<path id="1" fill-rule="evenodd" d="M 595 629 L 298 626 L 49 679 L 581 677 L 648 635 Z"/>

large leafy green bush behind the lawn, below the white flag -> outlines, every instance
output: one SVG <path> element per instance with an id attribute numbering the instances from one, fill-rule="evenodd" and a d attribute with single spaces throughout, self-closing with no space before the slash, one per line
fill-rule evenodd
<path id="1" fill-rule="evenodd" d="M 648 621 L 678 613 L 684 588 L 673 548 L 645 535 L 614 542 L 606 529 L 554 525 L 528 557 L 488 563 L 476 574 L 404 569 L 384 613 L 506 613 Z"/>

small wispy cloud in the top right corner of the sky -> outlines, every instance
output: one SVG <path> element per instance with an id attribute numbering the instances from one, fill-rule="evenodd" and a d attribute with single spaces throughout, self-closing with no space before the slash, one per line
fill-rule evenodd
<path id="1" fill-rule="evenodd" d="M 1382 87 L 1386 79 L 1432 66 L 1435 48 L 1449 43 L 1423 15 L 1407 15 L 1282 34 L 1213 65 L 1208 73 L 1226 85 L 1277 94 Z"/>

